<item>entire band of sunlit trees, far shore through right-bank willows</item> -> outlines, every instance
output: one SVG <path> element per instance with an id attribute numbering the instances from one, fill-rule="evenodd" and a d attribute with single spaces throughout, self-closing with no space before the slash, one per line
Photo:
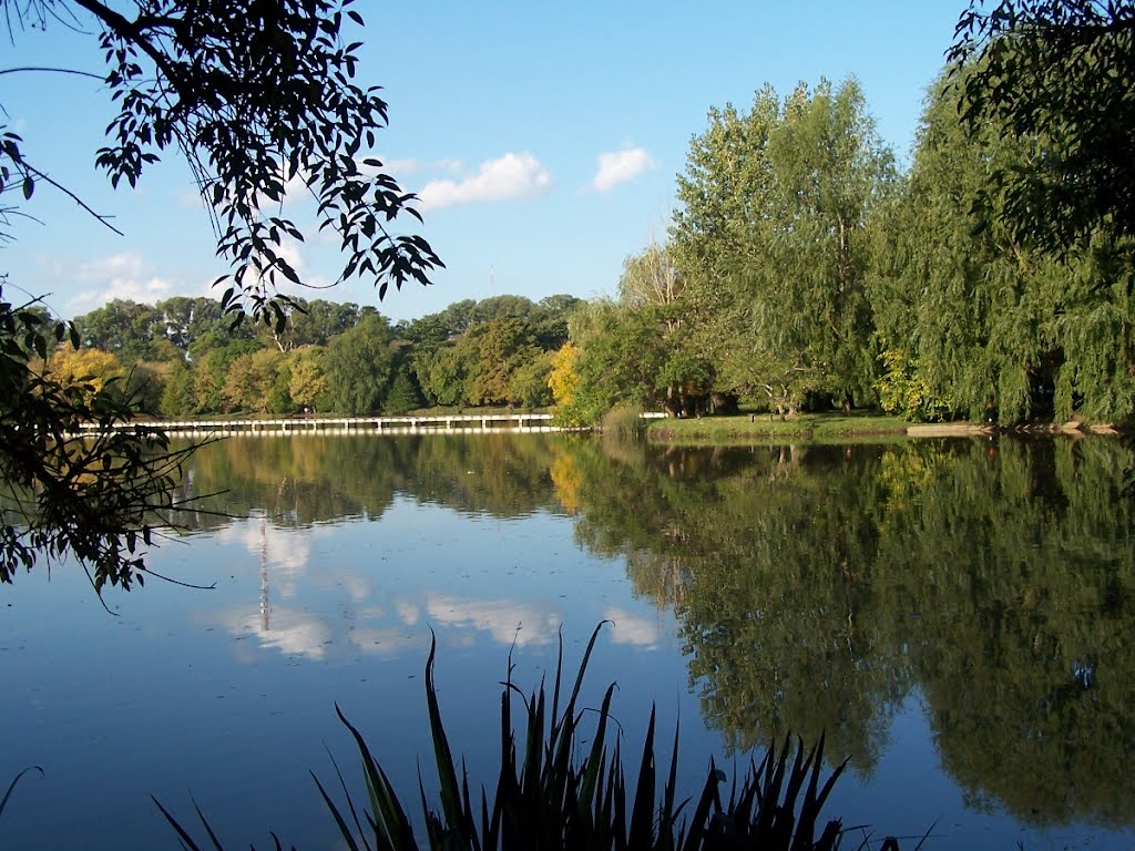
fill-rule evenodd
<path id="1" fill-rule="evenodd" d="M 286 325 L 235 328 L 209 298 L 111 302 L 75 320 L 83 348 L 53 365 L 128 374 L 166 416 L 554 404 L 564 423 L 594 424 L 621 404 L 746 404 L 1124 420 L 1135 243 L 1107 216 L 1060 248 L 1022 228 L 1006 175 L 1041 174 L 1052 143 L 967 120 L 981 70 L 931 85 L 906 168 L 855 79 L 711 109 L 667 237 L 627 259 L 616 298 L 466 300 L 397 325 L 297 300 Z"/>

